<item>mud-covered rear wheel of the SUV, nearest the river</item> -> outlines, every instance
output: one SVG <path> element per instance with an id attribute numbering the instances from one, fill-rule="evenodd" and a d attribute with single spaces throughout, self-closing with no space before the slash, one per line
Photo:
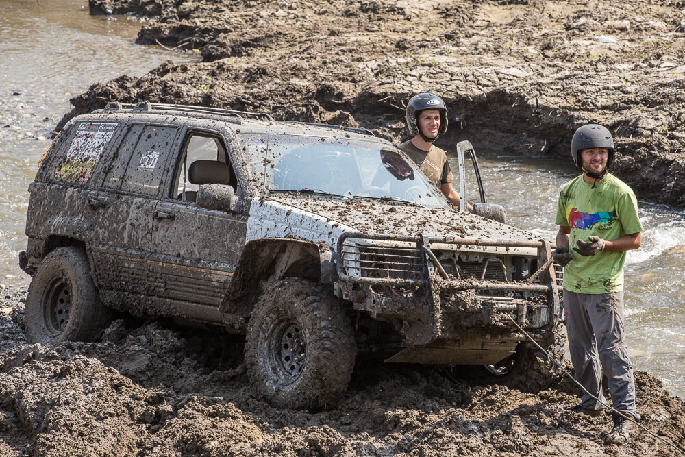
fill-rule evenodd
<path id="1" fill-rule="evenodd" d="M 32 343 L 94 341 L 110 320 L 82 249 L 59 247 L 45 256 L 26 298 L 25 325 Z"/>

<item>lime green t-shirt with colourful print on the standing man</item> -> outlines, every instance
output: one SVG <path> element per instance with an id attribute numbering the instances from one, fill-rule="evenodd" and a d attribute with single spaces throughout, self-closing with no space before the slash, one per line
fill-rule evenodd
<path id="1" fill-rule="evenodd" d="M 616 240 L 642 232 L 638 203 L 632 189 L 613 175 L 607 174 L 592 187 L 580 175 L 564 184 L 559 194 L 556 223 L 571 227 L 569 251 L 573 256 L 564 267 L 564 289 L 579 293 L 621 292 L 625 251 L 581 256 L 573 247 L 577 247 L 576 240 L 587 241 L 593 235 Z"/>

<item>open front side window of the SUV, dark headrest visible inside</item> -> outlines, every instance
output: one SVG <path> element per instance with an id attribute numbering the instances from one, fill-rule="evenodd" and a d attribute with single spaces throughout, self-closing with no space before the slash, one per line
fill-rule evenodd
<path id="1" fill-rule="evenodd" d="M 190 133 L 186 139 L 180 162 L 177 164 L 175 184 L 171 189 L 172 195 L 169 197 L 184 201 L 195 201 L 199 184 L 203 183 L 193 182 L 189 171 L 192 164 L 198 160 L 227 164 L 225 167 L 227 182 L 233 186 L 234 190 L 236 189 L 236 173 L 230 161 L 227 160 L 226 149 L 221 139 L 208 134 Z M 196 167 L 199 165 L 196 164 Z M 205 163 L 203 166 L 212 166 L 212 164 Z M 220 164 L 216 164 L 216 168 L 219 167 Z"/>

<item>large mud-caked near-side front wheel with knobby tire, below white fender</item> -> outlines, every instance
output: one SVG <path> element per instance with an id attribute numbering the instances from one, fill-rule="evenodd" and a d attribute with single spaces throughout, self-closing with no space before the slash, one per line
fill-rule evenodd
<path id="1" fill-rule="evenodd" d="M 293 409 L 331 408 L 347 388 L 356 357 L 340 301 L 299 279 L 266 286 L 247 327 L 245 367 L 258 396 Z"/>

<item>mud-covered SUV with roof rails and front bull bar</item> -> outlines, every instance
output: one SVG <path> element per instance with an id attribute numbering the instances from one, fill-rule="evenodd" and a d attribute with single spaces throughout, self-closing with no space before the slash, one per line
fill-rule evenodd
<path id="1" fill-rule="evenodd" d="M 64 127 L 29 191 L 32 341 L 92 340 L 111 310 L 245 334 L 251 384 L 293 408 L 334 404 L 358 352 L 535 384 L 519 327 L 557 347 L 550 244 L 452 208 L 360 129 L 110 103 Z"/>

